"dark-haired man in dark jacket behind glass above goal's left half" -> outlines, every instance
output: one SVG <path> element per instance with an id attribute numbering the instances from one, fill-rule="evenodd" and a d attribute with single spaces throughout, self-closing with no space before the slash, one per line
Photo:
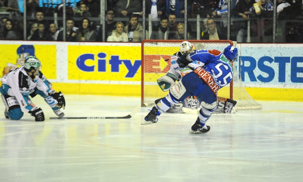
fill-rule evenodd
<path id="1" fill-rule="evenodd" d="M 168 40 L 168 17 L 162 16 L 160 19 L 160 26 L 151 33 L 151 40 Z"/>

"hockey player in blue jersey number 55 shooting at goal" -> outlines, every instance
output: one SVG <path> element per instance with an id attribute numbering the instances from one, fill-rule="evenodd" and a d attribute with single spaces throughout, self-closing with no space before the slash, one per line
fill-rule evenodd
<path id="1" fill-rule="evenodd" d="M 189 96 L 196 96 L 202 108 L 195 124 L 193 133 L 207 133 L 210 130 L 205 123 L 217 108 L 217 92 L 232 81 L 232 62 L 238 56 L 238 49 L 229 45 L 224 52 L 214 56 L 206 49 L 184 53 L 177 59 L 178 65 L 185 68 L 193 61 L 201 61 L 203 66 L 183 76 L 182 80 L 170 88 L 169 93 L 154 106 L 141 124 L 152 124 L 158 116 L 166 112 L 172 104 L 179 103 Z"/>

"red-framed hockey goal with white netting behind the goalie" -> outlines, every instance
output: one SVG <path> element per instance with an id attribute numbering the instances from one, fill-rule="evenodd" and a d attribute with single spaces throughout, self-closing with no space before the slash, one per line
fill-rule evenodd
<path id="1" fill-rule="evenodd" d="M 216 49 L 224 51 L 228 45 L 236 46 L 236 42 L 229 40 L 190 40 L 196 50 Z M 157 83 L 157 79 L 164 76 L 171 66 L 171 55 L 178 52 L 182 41 L 180 40 L 144 40 L 142 42 L 142 79 L 141 79 L 141 105 L 152 106 L 155 100 L 167 95 Z M 240 52 L 240 51 L 239 51 Z M 257 103 L 245 91 L 234 63 L 233 81 L 218 91 L 219 97 L 226 97 L 237 101 L 237 109 L 261 109 Z"/>

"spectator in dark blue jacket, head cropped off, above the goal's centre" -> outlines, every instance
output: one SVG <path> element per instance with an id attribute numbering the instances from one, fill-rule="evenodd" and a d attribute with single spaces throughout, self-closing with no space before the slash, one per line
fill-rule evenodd
<path id="1" fill-rule="evenodd" d="M 184 0 L 166 0 L 166 14 L 175 14 L 177 18 L 184 18 Z"/>

